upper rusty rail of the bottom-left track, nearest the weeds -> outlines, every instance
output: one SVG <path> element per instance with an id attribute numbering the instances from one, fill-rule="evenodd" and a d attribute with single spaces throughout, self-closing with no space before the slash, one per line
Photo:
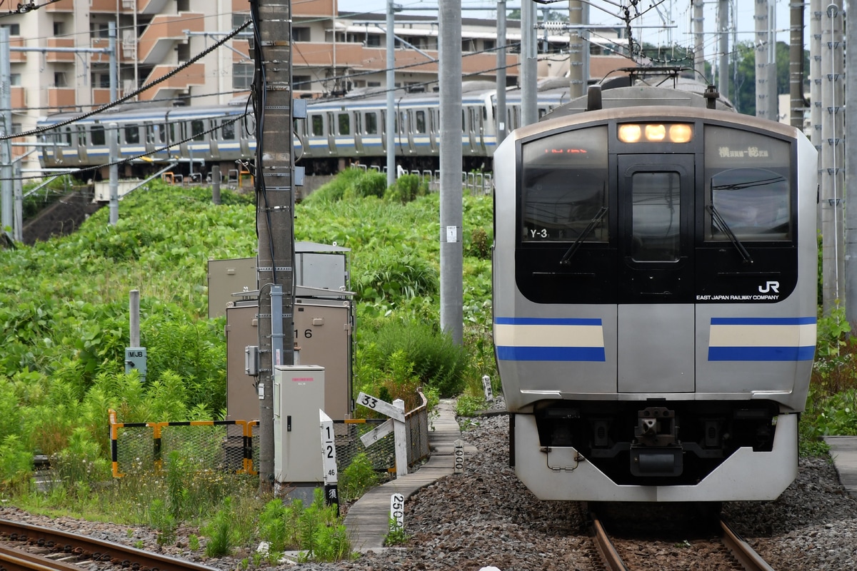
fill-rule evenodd
<path id="1" fill-rule="evenodd" d="M 43 545 L 48 549 L 66 551 L 69 555 L 76 554 L 82 558 L 111 561 L 121 564 L 123 567 L 133 566 L 147 571 L 218 571 L 199 563 L 138 550 L 128 545 L 115 544 L 73 532 L 63 532 L 49 527 L 32 526 L 10 520 L 0 520 L 0 536 L 13 541 L 26 541 L 28 544 Z M 47 565 L 47 561 L 50 560 L 43 558 L 39 565 Z M 54 563 L 51 562 L 51 566 L 53 565 Z M 33 566 L 29 568 L 44 571 L 44 568 L 38 567 L 35 562 L 33 562 Z"/>

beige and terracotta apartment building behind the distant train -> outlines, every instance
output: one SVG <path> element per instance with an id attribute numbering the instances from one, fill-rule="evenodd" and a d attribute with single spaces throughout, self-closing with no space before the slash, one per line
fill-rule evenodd
<path id="1" fill-rule="evenodd" d="M 339 14 L 337 0 L 293 2 L 293 88 L 296 97 L 315 98 L 355 89 L 386 88 L 386 15 Z M 108 103 L 111 93 L 109 33 L 117 30 L 117 95 L 170 74 L 249 19 L 248 0 L 59 0 L 25 14 L 9 15 L 13 131 L 35 127 L 40 116 L 86 111 Z M 495 80 L 494 21 L 462 21 L 462 74 L 465 80 Z M 438 22 L 430 16 L 397 15 L 394 33 L 396 85 L 431 91 L 438 79 Z M 245 31 L 141 92 L 139 103 L 225 104 L 249 96 L 253 62 Z M 520 27 L 507 22 L 507 43 L 517 45 Z M 620 40 L 617 40 L 620 41 Z M 539 76 L 562 76 L 568 69 L 568 37 L 541 40 Z M 51 51 L 62 48 L 63 51 Z M 21 51 L 24 49 L 25 51 Z M 78 49 L 81 51 L 69 51 Z M 93 51 L 96 50 L 96 51 Z M 86 51 L 83 51 L 86 50 Z M 631 62 L 609 53 L 590 60 L 600 77 Z M 518 53 L 506 54 L 506 79 L 518 81 Z M 15 154 L 25 152 L 16 147 Z M 25 168 L 35 168 L 32 156 Z"/>

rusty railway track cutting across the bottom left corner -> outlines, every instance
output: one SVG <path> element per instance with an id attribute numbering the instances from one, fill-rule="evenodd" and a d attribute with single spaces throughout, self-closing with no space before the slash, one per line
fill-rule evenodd
<path id="1" fill-rule="evenodd" d="M 9 520 L 0 520 L 0 538 L 4 543 L 0 571 L 80 571 L 81 565 L 93 562 L 133 571 L 217 571 L 127 545 Z"/>

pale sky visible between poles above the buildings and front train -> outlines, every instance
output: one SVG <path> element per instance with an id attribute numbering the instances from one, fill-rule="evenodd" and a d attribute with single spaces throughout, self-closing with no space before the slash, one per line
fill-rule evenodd
<path id="1" fill-rule="evenodd" d="M 402 6 L 403 14 L 412 15 L 437 15 L 438 0 L 394 0 Z M 526 1 L 526 0 L 523 0 Z M 788 25 L 789 25 L 789 2 L 791 0 L 771 0 L 776 4 L 776 30 L 777 40 L 788 44 Z M 490 18 L 494 19 L 495 10 L 491 10 L 496 6 L 495 2 L 489 0 L 460 0 L 462 14 L 464 17 L 472 18 Z M 506 0 L 507 9 L 519 9 L 522 0 Z M 620 8 L 617 5 L 628 5 L 629 0 L 591 0 L 590 4 L 590 23 L 615 25 L 621 24 L 619 14 Z M 654 4 L 656 6 L 652 7 Z M 732 0 L 735 13 L 734 21 L 738 22 L 736 32 L 738 33 L 738 41 L 753 39 L 754 26 L 754 10 L 755 3 L 747 0 Z M 808 2 L 806 2 L 808 5 Z M 712 59 L 715 57 L 717 39 L 714 35 L 716 31 L 716 0 L 706 0 L 704 3 L 704 30 L 705 38 L 705 57 Z M 541 4 L 537 7 L 542 6 Z M 557 2 L 548 4 L 548 8 L 567 12 L 568 3 Z M 411 9 L 409 11 L 409 9 Z M 691 46 L 692 27 L 691 27 L 691 7 L 690 0 L 643 0 L 638 3 L 638 10 L 645 11 L 644 15 L 639 18 L 642 25 L 634 29 L 635 38 L 654 45 L 687 45 Z M 384 15 L 387 13 L 386 0 L 339 0 L 339 11 L 354 11 L 354 12 L 369 12 L 372 14 Z M 806 8 L 806 31 L 805 42 L 808 43 L 808 7 Z M 664 23 L 671 22 L 674 28 L 663 29 Z M 658 27 L 660 29 L 655 29 Z"/>

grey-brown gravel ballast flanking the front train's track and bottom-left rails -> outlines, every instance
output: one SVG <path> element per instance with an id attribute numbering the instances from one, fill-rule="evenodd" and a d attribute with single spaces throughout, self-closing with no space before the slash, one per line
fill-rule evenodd
<path id="1" fill-rule="evenodd" d="M 477 571 L 494 566 L 512 570 L 588 570 L 590 541 L 576 503 L 542 502 L 524 488 L 508 467 L 506 416 L 464 423 L 463 438 L 479 452 L 452 474 L 419 491 L 406 502 L 405 547 L 369 553 L 336 564 L 283 565 L 302 571 L 372 570 Z M 857 568 L 857 500 L 839 485 L 829 461 L 800 461 L 798 479 L 776 502 L 724 503 L 724 516 L 775 569 L 842 571 Z M 31 516 L 0 508 L 0 518 L 74 529 L 117 543 L 159 550 L 146 528 Z M 185 530 L 198 533 L 198 530 Z M 179 530 L 182 533 L 182 530 Z M 204 541 L 204 538 L 203 538 Z M 186 538 L 162 551 L 232 571 L 246 554 L 206 560 L 190 552 Z M 681 550 L 671 550 L 674 568 Z M 694 567 L 699 569 L 699 567 Z"/>

